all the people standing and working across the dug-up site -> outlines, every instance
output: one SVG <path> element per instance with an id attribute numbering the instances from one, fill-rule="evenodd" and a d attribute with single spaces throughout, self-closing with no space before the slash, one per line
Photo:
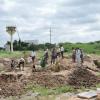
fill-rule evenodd
<path id="1" fill-rule="evenodd" d="M 72 61 L 75 63 L 77 63 L 78 66 L 80 66 L 83 63 L 83 51 L 80 48 L 72 48 Z M 35 58 L 36 58 L 36 52 L 32 51 L 31 52 L 31 61 L 33 62 L 33 68 L 35 69 Z M 45 49 L 44 54 L 43 54 L 43 63 L 46 65 L 48 64 L 48 60 L 49 58 L 51 58 L 51 64 L 55 64 L 56 61 L 59 58 L 64 58 L 64 47 L 60 46 L 60 47 L 56 47 L 50 50 Z M 19 69 L 24 70 L 24 64 L 25 64 L 25 60 L 23 58 L 19 59 L 18 61 L 18 65 L 17 67 L 19 67 Z M 14 69 L 15 67 L 15 61 L 12 60 L 11 61 L 11 69 Z"/>

